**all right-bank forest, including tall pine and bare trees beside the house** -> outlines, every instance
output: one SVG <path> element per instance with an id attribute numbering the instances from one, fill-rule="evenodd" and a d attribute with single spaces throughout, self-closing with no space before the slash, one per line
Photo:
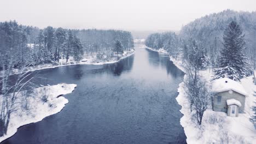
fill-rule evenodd
<path id="1" fill-rule="evenodd" d="M 190 112 L 195 111 L 194 119 L 201 125 L 203 113 L 213 103 L 213 93 L 207 86 L 210 85 L 207 75 L 212 75 L 212 80 L 228 77 L 238 82 L 247 76 L 253 76 L 254 85 L 256 84 L 255 39 L 255 12 L 225 10 L 188 23 L 179 34 L 151 34 L 146 39 L 146 46 L 155 50 L 164 49 L 175 60 L 179 58 L 178 61 L 182 61 L 187 74 L 184 91 L 190 104 Z M 207 70 L 208 74 L 203 73 L 203 70 Z M 252 107 L 255 114 L 256 105 Z M 251 116 L 251 121 L 255 125 L 255 115 Z"/>

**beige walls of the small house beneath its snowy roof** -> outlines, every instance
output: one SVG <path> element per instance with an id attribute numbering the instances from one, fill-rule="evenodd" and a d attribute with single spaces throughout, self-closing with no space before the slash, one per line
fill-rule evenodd
<path id="1" fill-rule="evenodd" d="M 222 96 L 222 101 L 220 102 L 220 104 L 218 104 L 217 102 L 217 96 Z M 228 105 L 226 104 L 226 100 L 228 99 L 236 99 L 240 101 L 242 106 L 238 108 L 238 112 L 243 113 L 243 110 L 245 109 L 245 95 L 242 95 L 235 91 L 232 91 L 231 94 L 229 93 L 229 91 L 215 94 L 213 97 L 213 110 L 228 112 Z"/>

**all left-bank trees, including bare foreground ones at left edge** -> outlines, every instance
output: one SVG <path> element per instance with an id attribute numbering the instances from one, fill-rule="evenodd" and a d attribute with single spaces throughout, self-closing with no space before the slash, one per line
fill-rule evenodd
<path id="1" fill-rule="evenodd" d="M 16 21 L 0 22 L 0 137 L 7 134 L 11 113 L 17 110 L 16 107 L 26 105 L 25 111 L 28 111 L 28 89 L 42 87 L 32 82 L 42 77 L 32 76 L 33 72 L 28 68 L 45 67 L 44 64 L 75 64 L 87 57 L 112 61 L 121 58 L 125 52 L 132 53 L 133 47 L 132 35 L 127 31 L 51 26 L 40 29 L 19 25 Z M 12 73 L 15 69 L 19 70 L 17 75 Z M 20 93 L 23 92 L 26 92 L 26 100 L 21 100 Z M 49 98 L 42 94 L 39 103 L 44 104 Z"/>

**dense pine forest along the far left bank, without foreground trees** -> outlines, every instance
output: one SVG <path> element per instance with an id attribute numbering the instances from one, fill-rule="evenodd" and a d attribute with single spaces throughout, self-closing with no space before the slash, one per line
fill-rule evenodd
<path id="1" fill-rule="evenodd" d="M 40 29 L 19 25 L 16 21 L 0 23 L 1 69 L 24 65 L 79 62 L 86 56 L 109 59 L 121 41 L 124 51 L 133 49 L 130 32 L 97 29 L 64 29 L 48 26 Z M 11 63 L 11 66 L 8 66 Z M 5 68 L 6 69 L 6 68 Z"/>

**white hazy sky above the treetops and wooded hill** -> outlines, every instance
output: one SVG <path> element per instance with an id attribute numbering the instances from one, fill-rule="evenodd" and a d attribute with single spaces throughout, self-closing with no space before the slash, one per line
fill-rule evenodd
<path id="1" fill-rule="evenodd" d="M 40 28 L 177 31 L 225 9 L 255 11 L 256 0 L 0 0 L 0 21 Z"/>

